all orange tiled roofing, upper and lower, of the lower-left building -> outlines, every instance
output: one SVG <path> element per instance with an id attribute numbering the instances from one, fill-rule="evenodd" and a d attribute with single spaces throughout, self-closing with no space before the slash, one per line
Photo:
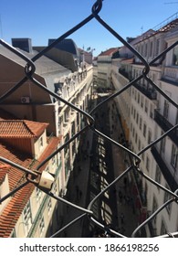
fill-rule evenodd
<path id="1" fill-rule="evenodd" d="M 47 127 L 47 123 L 36 123 L 27 120 L 4 120 L 6 112 L 1 111 L 3 118 L 0 116 L 0 136 L 1 137 L 33 137 L 37 136 Z M 60 143 L 61 137 L 50 137 L 47 141 L 47 147 L 40 155 L 38 159 L 34 159 L 26 152 L 14 148 L 12 145 L 5 144 L 5 142 L 0 143 L 0 155 L 17 165 L 29 169 L 37 169 L 37 166 L 42 163 L 48 155 L 51 155 Z M 47 163 L 39 169 L 42 171 L 46 168 Z M 26 180 L 26 174 L 14 167 L 13 165 L 6 165 L 3 161 L 0 161 L 0 185 L 5 181 L 5 176 L 8 178 L 8 184 L 10 191 L 19 187 Z M 29 183 L 26 187 L 21 188 L 16 192 L 13 197 L 9 197 L 10 200 L 6 203 L 5 208 L 3 208 L 0 215 L 0 237 L 10 237 L 13 229 L 16 227 L 16 221 L 22 214 L 26 203 L 29 200 L 32 192 L 35 189 L 35 185 Z"/>

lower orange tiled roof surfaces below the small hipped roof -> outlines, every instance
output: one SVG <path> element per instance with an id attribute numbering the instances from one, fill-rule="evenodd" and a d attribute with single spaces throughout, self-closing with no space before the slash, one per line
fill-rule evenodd
<path id="1" fill-rule="evenodd" d="M 29 158 L 28 155 L 26 155 L 25 153 L 22 153 L 18 150 L 13 151 L 12 147 L 8 148 L 8 146 L 6 146 L 5 144 L 0 144 L 0 155 L 26 168 L 29 168 L 29 166 L 31 165 L 30 169 L 32 168 L 33 163 L 33 169 L 35 170 L 37 168 L 37 165 L 44 161 L 47 155 L 50 155 L 54 152 L 54 150 L 58 147 L 59 141 L 60 138 L 52 137 L 47 144 L 46 150 L 36 162 L 33 162 L 33 159 Z M 0 161 L 0 166 L 3 165 L 5 164 Z M 41 170 L 44 168 L 45 165 L 41 167 Z M 5 170 L 5 168 L 0 169 L 0 174 L 2 170 L 2 176 L 4 176 L 5 173 L 8 175 L 10 191 L 18 187 L 22 183 L 24 178 L 26 180 L 26 175 L 14 166 L 10 165 L 7 170 Z M 7 203 L 6 207 L 0 215 L 0 238 L 9 237 L 11 235 L 13 229 L 16 226 L 16 221 L 22 214 L 22 211 L 25 208 L 26 203 L 31 196 L 34 188 L 35 185 L 29 183 L 26 187 L 21 188 L 19 191 L 16 192 L 13 197 L 11 197 L 10 201 Z"/>

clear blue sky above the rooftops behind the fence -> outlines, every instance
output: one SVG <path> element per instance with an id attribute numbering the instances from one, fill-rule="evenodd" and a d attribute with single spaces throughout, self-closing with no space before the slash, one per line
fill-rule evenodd
<path id="1" fill-rule="evenodd" d="M 165 4 L 173 3 L 174 4 Z M 11 43 L 12 37 L 30 37 L 33 46 L 46 46 L 48 38 L 57 38 L 91 14 L 95 0 L 0 0 L 0 37 Z M 178 12 L 173 0 L 104 0 L 99 16 L 121 37 L 137 37 Z M 121 46 L 93 19 L 73 33 L 79 48 L 102 50 Z"/>

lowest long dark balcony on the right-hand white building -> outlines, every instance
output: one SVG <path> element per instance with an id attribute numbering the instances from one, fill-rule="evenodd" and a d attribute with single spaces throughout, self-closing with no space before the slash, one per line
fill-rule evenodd
<path id="1" fill-rule="evenodd" d="M 162 175 L 164 176 L 169 187 L 172 189 L 172 191 L 175 191 L 177 189 L 177 183 L 176 183 L 171 171 L 169 170 L 167 165 L 165 165 L 165 163 L 162 159 L 162 156 L 159 154 L 159 152 L 157 151 L 155 146 L 152 146 L 151 152 L 152 152 L 152 155 L 153 155 L 156 163 L 159 165 L 160 170 L 162 171 Z"/>

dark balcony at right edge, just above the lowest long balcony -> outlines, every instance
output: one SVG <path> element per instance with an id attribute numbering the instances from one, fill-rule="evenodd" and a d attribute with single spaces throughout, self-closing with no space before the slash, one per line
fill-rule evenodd
<path id="1" fill-rule="evenodd" d="M 160 112 L 157 110 L 154 111 L 154 121 L 162 128 L 164 132 L 167 132 L 171 128 L 173 128 L 173 124 L 169 123 L 169 121 L 162 116 Z M 172 133 L 169 133 L 168 136 L 173 141 L 174 144 L 178 146 L 178 131 L 177 129 L 173 130 Z"/>

